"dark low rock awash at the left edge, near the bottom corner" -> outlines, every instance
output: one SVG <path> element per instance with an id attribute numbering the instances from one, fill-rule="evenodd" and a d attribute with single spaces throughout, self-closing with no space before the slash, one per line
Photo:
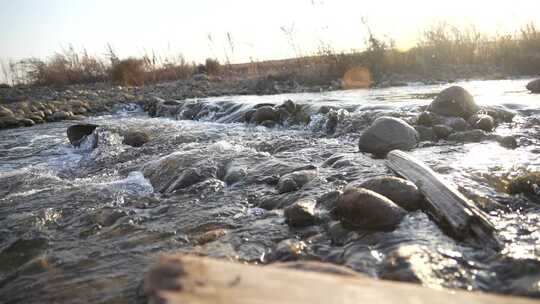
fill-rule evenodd
<path id="1" fill-rule="evenodd" d="M 45 251 L 47 245 L 45 238 L 16 240 L 0 252 L 0 273 L 16 270 Z"/>

